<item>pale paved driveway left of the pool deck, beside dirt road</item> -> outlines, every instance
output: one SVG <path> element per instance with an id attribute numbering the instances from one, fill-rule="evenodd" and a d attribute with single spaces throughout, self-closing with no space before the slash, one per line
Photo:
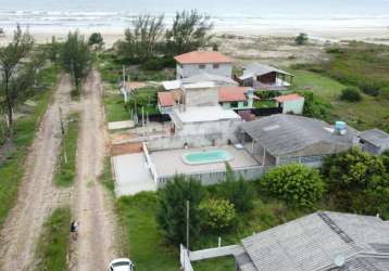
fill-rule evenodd
<path id="1" fill-rule="evenodd" d="M 142 153 L 126 154 L 113 157 L 115 170 L 116 196 L 135 195 L 142 191 L 155 191 Z"/>

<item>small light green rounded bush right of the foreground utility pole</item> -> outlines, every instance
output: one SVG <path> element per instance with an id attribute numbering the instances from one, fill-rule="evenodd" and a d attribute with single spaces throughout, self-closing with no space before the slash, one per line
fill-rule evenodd
<path id="1" fill-rule="evenodd" d="M 236 214 L 234 204 L 227 199 L 209 199 L 200 205 L 205 229 L 221 231 L 230 228 Z"/>

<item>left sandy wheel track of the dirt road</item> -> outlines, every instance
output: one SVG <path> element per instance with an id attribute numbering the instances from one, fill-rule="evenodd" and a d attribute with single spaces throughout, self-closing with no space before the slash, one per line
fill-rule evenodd
<path id="1" fill-rule="evenodd" d="M 0 233 L 0 270 L 33 269 L 35 245 L 45 219 L 68 198 L 70 192 L 58 190 L 52 177 L 61 142 L 59 107 L 67 113 L 71 89 L 68 76 L 62 75 L 29 150 L 16 205 Z"/>

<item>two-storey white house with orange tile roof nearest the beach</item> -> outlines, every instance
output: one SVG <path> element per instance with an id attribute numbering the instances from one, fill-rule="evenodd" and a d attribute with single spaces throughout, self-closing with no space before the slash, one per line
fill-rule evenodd
<path id="1" fill-rule="evenodd" d="M 234 60 L 215 51 L 193 51 L 174 57 L 177 79 L 201 74 L 231 78 Z"/>

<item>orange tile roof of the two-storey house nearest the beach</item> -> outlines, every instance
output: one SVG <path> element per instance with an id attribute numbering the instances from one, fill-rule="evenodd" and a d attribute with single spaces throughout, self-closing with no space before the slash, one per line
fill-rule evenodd
<path id="1" fill-rule="evenodd" d="M 174 57 L 180 64 L 233 63 L 234 60 L 215 51 L 193 51 Z"/>

